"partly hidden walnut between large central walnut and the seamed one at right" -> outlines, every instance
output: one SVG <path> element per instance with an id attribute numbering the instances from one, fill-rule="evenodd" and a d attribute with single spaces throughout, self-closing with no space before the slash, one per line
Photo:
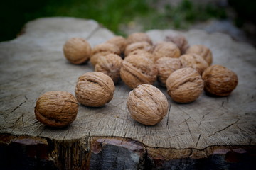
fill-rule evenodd
<path id="1" fill-rule="evenodd" d="M 172 72 L 181 69 L 181 60 L 178 58 L 161 57 L 155 64 L 158 71 L 157 80 L 161 86 L 166 86 L 166 79 Z"/>

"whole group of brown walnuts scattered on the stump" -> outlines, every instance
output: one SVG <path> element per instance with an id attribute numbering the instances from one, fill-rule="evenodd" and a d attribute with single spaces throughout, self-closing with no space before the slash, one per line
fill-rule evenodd
<path id="1" fill-rule="evenodd" d="M 63 52 L 73 64 L 90 60 L 95 72 L 78 78 L 75 97 L 65 91 L 50 91 L 38 98 L 36 118 L 49 126 L 63 127 L 73 122 L 78 102 L 89 107 L 104 106 L 113 98 L 114 84 L 121 80 L 133 89 L 127 98 L 129 113 L 144 125 L 159 123 L 169 110 L 164 94 L 152 85 L 156 80 L 177 103 L 195 101 L 203 89 L 210 96 L 228 96 L 238 84 L 235 72 L 211 65 L 213 56 L 208 47 L 189 47 L 183 35 L 169 35 L 153 45 L 146 33 L 133 33 L 93 48 L 87 40 L 71 38 Z"/>

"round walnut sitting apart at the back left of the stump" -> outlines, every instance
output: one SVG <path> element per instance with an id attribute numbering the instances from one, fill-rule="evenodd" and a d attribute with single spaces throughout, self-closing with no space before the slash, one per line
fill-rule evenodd
<path id="1" fill-rule="evenodd" d="M 82 64 L 90 59 L 91 46 L 82 38 L 70 38 L 63 46 L 66 59 L 73 64 Z"/>

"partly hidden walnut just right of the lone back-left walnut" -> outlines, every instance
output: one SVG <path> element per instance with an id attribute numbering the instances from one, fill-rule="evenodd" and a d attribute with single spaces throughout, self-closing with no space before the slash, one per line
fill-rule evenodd
<path id="1" fill-rule="evenodd" d="M 106 56 L 108 54 L 116 54 L 121 55 L 119 47 L 110 43 L 102 43 L 100 45 L 96 45 L 92 49 L 92 56 L 90 57 L 91 64 L 95 67 L 97 64 L 97 60 L 99 57 Z"/>

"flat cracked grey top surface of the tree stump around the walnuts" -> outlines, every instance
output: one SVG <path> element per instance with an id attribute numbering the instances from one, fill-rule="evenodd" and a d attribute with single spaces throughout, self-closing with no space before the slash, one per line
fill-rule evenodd
<path id="1" fill-rule="evenodd" d="M 64 142 L 80 140 L 82 144 L 86 141 L 85 147 L 97 137 L 119 137 L 142 143 L 149 148 L 149 154 L 156 148 L 180 149 L 176 156 L 166 156 L 175 158 L 206 157 L 208 148 L 216 146 L 256 145 L 256 50 L 251 45 L 203 30 L 149 30 L 146 33 L 154 43 L 171 33 L 181 33 L 189 45 L 209 47 L 213 64 L 238 74 L 237 88 L 228 97 L 214 98 L 203 93 L 193 103 L 178 104 L 156 82 L 154 85 L 166 95 L 171 107 L 160 123 L 146 126 L 130 117 L 126 100 L 131 89 L 121 82 L 110 103 L 100 108 L 80 105 L 78 117 L 71 125 L 48 128 L 35 118 L 37 98 L 54 90 L 75 94 L 78 77 L 93 71 L 89 62 L 74 65 L 65 60 L 65 41 L 85 38 L 93 47 L 114 34 L 95 21 L 77 18 L 40 18 L 27 23 L 23 32 L 15 40 L 0 43 L 1 134 Z"/>

